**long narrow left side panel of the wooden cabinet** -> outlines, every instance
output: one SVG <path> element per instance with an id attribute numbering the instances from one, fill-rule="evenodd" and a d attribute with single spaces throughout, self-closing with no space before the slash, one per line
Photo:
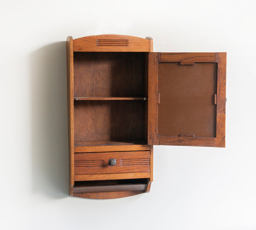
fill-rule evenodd
<path id="1" fill-rule="evenodd" d="M 68 86 L 68 139 L 69 139 L 69 195 L 74 187 L 74 61 L 73 38 L 69 36 L 67 46 L 67 86 Z"/>

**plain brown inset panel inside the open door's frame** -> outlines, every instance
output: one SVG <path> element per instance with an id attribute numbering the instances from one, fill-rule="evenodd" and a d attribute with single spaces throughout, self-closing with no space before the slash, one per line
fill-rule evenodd
<path id="1" fill-rule="evenodd" d="M 158 135 L 216 136 L 217 64 L 159 63 Z"/>

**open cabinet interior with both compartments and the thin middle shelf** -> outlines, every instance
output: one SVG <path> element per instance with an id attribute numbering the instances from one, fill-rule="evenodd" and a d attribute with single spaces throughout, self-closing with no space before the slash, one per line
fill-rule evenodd
<path id="1" fill-rule="evenodd" d="M 74 52 L 74 144 L 146 143 L 144 52 Z"/>

